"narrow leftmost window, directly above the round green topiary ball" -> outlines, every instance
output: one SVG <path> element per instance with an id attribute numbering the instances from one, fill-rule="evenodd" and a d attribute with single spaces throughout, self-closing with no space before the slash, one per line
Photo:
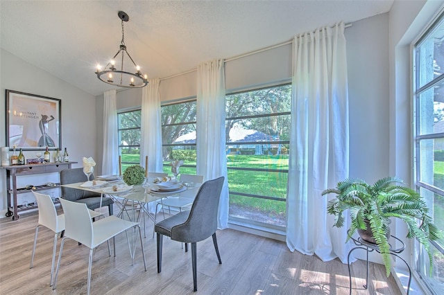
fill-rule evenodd
<path id="1" fill-rule="evenodd" d="M 140 109 L 117 114 L 122 172 L 140 163 L 140 115 Z"/>

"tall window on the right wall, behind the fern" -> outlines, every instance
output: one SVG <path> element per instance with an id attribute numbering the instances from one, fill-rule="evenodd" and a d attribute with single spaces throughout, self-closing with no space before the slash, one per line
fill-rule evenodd
<path id="1" fill-rule="evenodd" d="M 444 229 L 444 17 L 414 46 L 416 185 L 434 224 Z M 434 267 L 420 249 L 418 274 L 436 293 L 444 287 L 444 240 L 431 242 Z"/>

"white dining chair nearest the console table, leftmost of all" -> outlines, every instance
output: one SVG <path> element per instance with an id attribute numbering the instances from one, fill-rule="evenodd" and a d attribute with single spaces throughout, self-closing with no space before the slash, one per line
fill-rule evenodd
<path id="1" fill-rule="evenodd" d="M 60 214 L 57 215 L 56 206 L 54 206 L 53 200 L 49 195 L 44 195 L 41 193 L 33 192 L 35 200 L 37 201 L 37 207 L 39 209 L 39 220 L 38 224 L 35 227 L 35 235 L 34 235 L 34 246 L 33 253 L 31 255 L 31 265 L 30 269 L 33 268 L 34 265 L 34 254 L 35 247 L 37 245 L 37 235 L 39 233 L 39 226 L 44 226 L 47 229 L 50 229 L 54 232 L 54 244 L 53 244 L 53 259 L 51 262 L 51 279 L 49 281 L 49 285 L 53 285 L 53 275 L 54 275 L 54 263 L 56 261 L 56 247 L 57 247 L 57 235 L 65 231 L 65 215 Z M 99 217 L 103 215 L 102 213 L 96 211 L 90 211 L 90 215 L 92 218 Z"/>

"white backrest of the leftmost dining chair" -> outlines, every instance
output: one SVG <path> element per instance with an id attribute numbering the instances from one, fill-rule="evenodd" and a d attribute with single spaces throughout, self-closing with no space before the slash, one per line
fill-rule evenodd
<path id="1" fill-rule="evenodd" d="M 65 229 L 63 219 L 57 217 L 56 206 L 49 195 L 33 192 L 37 206 L 39 208 L 39 224 L 46 226 L 55 233 L 59 233 Z"/>

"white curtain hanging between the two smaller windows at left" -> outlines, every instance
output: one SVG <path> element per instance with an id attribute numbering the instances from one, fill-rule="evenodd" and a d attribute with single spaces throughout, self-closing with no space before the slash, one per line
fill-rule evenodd
<path id="1" fill-rule="evenodd" d="M 142 88 L 140 166 L 146 168 L 145 157 L 148 156 L 148 172 L 163 172 L 159 84 L 159 78 L 150 79 Z"/>

